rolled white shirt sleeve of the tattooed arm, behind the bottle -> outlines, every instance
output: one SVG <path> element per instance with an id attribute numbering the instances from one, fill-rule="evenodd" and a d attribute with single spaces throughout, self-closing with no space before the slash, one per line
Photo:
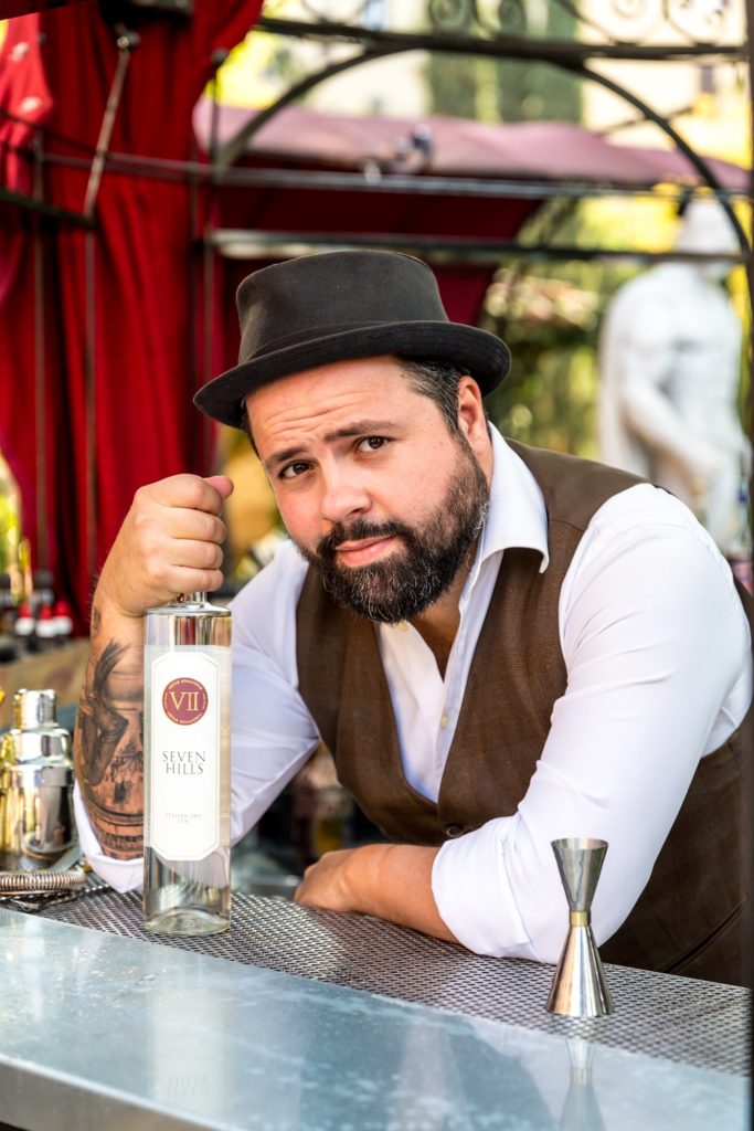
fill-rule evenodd
<path id="1" fill-rule="evenodd" d="M 297 688 L 296 605 L 305 573 L 289 544 L 233 602 L 231 840 L 243 837 L 305 763 L 319 732 Z M 144 865 L 103 854 L 75 793 L 81 847 L 118 891 L 142 882 Z"/>

